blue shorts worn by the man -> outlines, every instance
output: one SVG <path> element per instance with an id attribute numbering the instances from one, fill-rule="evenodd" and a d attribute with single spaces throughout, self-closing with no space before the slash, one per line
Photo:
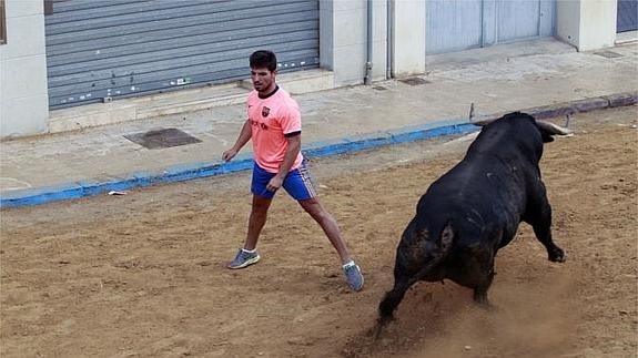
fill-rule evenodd
<path id="1" fill-rule="evenodd" d="M 266 172 L 255 163 L 253 167 L 251 192 L 254 195 L 273 198 L 275 196 L 275 192 L 271 192 L 266 188 L 273 176 L 275 176 L 274 173 Z M 300 165 L 300 167 L 291 171 L 288 175 L 286 175 L 282 187 L 285 188 L 290 196 L 296 201 L 305 201 L 317 195 L 305 161 Z"/>

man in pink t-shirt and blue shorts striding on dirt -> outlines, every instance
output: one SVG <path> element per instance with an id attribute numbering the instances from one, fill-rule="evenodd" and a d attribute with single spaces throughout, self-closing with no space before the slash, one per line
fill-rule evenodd
<path id="1" fill-rule="evenodd" d="M 352 259 L 336 221 L 316 197 L 301 153 L 300 109 L 295 100 L 275 82 L 276 57 L 271 51 L 256 51 L 251 54 L 250 67 L 254 91 L 247 99 L 249 119 L 235 144 L 223 153 L 222 158 L 225 162 L 232 160 L 252 140 L 255 160 L 251 184 L 253 204 L 244 247 L 227 267 L 244 268 L 260 260 L 257 239 L 271 202 L 283 186 L 323 228 L 341 257 L 348 286 L 361 290 L 364 282 L 361 268 Z"/>

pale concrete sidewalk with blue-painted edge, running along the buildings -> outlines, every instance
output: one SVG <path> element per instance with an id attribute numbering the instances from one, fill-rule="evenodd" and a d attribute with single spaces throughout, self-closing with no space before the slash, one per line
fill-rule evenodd
<path id="1" fill-rule="evenodd" d="M 636 103 L 637 90 L 637 43 L 576 52 L 555 40 L 537 40 L 428 57 L 428 72 L 408 81 L 295 98 L 303 114 L 303 151 L 322 156 L 475 130 L 467 124 L 473 102 L 479 115 L 528 110 L 547 117 Z M 36 205 L 249 168 L 250 144 L 232 162 L 221 162 L 245 120 L 243 104 L 231 104 L 3 141 L 0 206 Z M 149 150 L 124 136 L 158 129 L 178 129 L 201 142 Z"/>

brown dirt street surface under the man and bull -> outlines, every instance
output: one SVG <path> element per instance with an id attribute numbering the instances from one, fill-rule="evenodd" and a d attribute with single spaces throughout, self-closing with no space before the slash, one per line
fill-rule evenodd
<path id="1" fill-rule="evenodd" d="M 363 267 L 361 293 L 281 194 L 262 262 L 224 268 L 245 234 L 249 173 L 3 211 L 0 356 L 636 357 L 637 121 L 635 106 L 577 115 L 576 135 L 546 145 L 565 264 L 523 224 L 497 256 L 495 310 L 454 283 L 421 283 L 378 339 L 399 235 L 470 135 L 311 162 Z"/>

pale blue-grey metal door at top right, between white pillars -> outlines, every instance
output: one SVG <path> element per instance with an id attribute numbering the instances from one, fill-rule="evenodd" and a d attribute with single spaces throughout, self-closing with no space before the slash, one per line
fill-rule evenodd
<path id="1" fill-rule="evenodd" d="M 427 0 L 426 53 L 554 34 L 555 0 Z"/>

